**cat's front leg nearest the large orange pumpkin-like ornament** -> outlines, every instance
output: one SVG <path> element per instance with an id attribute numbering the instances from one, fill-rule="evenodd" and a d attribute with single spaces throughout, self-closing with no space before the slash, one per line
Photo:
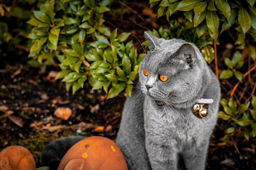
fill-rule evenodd
<path id="1" fill-rule="evenodd" d="M 177 170 L 177 153 L 173 147 L 146 142 L 146 150 L 153 170 Z"/>

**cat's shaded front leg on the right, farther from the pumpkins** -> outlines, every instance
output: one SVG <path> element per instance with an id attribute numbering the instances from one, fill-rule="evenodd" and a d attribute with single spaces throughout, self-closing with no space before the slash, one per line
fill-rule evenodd
<path id="1" fill-rule="evenodd" d="M 207 158 L 209 141 L 205 140 L 193 150 L 187 150 L 183 154 L 184 164 L 187 170 L 204 170 Z"/>

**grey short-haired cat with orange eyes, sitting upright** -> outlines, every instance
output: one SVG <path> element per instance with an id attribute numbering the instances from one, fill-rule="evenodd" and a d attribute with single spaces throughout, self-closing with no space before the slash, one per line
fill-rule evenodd
<path id="1" fill-rule="evenodd" d="M 129 169 L 205 169 L 219 81 L 193 43 L 145 36 L 150 50 L 125 102 L 116 144 Z M 199 119 L 192 108 L 201 98 L 213 103 Z"/>

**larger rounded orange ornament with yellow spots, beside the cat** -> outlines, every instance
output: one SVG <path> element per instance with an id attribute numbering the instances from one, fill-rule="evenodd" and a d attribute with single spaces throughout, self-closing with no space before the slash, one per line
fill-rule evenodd
<path id="1" fill-rule="evenodd" d="M 58 170 L 128 170 L 124 156 L 111 139 L 92 136 L 73 145 L 60 161 Z"/>

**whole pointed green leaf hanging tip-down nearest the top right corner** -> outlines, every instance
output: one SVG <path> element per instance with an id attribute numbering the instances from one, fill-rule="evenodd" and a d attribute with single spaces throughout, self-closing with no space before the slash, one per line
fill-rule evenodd
<path id="1" fill-rule="evenodd" d="M 251 28 L 251 17 L 243 6 L 240 6 L 238 12 L 238 22 L 243 30 L 243 34 L 245 34 Z"/>

